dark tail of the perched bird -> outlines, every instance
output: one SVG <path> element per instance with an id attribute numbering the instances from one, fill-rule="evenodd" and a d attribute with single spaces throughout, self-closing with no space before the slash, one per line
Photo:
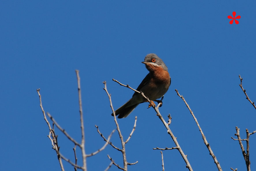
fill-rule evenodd
<path id="1" fill-rule="evenodd" d="M 118 115 L 118 118 L 123 118 L 123 117 L 127 117 L 134 109 L 135 107 L 137 107 L 139 105 L 139 103 L 135 103 L 132 104 L 132 98 L 130 100 L 128 100 L 128 102 L 126 102 L 123 106 L 119 107 L 116 111 L 115 111 L 115 115 Z M 114 114 L 111 114 L 112 116 L 114 116 Z"/>

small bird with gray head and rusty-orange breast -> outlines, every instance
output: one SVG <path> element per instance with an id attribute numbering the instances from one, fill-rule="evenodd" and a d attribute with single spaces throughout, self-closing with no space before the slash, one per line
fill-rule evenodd
<path id="1" fill-rule="evenodd" d="M 149 73 L 141 81 L 136 90 L 143 92 L 144 95 L 150 99 L 151 103 L 149 104 L 149 107 L 153 105 L 156 106 L 153 101 L 161 103 L 162 105 L 162 101 L 156 99 L 162 97 L 171 85 L 171 77 L 168 73 L 168 68 L 156 54 L 147 54 L 144 61 L 141 63 L 145 64 Z M 140 103 L 143 102 L 147 102 L 147 100 L 141 96 L 140 93 L 134 92 L 132 98 L 115 111 L 115 115 L 118 115 L 118 118 L 127 117 Z M 111 115 L 113 116 L 114 114 L 112 113 Z"/>

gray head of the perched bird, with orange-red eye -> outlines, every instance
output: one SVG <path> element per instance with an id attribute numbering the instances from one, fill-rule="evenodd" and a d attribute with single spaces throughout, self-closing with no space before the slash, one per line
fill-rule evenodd
<path id="1" fill-rule="evenodd" d="M 147 69 L 148 69 L 147 65 L 151 64 L 156 67 L 161 66 L 165 71 L 168 71 L 168 68 L 165 65 L 165 63 L 156 54 L 147 54 L 144 59 L 144 62 L 142 62 L 142 63 L 146 64 Z"/>

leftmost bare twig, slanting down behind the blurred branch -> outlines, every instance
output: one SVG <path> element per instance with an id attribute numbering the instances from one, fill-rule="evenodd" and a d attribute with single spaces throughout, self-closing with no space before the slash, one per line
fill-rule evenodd
<path id="1" fill-rule="evenodd" d="M 44 111 L 44 108 L 43 108 L 43 105 L 42 105 L 41 94 L 39 93 L 40 88 L 38 88 L 36 91 L 37 91 L 38 96 L 39 96 L 40 107 L 41 107 L 41 110 L 42 110 L 43 115 L 44 115 L 44 120 L 46 121 L 46 124 L 48 125 L 48 128 L 49 128 L 49 130 L 50 130 L 50 133 L 49 133 L 48 138 L 50 138 L 51 143 L 52 143 L 52 146 L 53 146 L 53 149 L 56 151 L 56 154 L 57 154 L 57 158 L 58 158 L 58 160 L 59 160 L 59 165 L 60 165 L 61 171 L 65 171 L 65 170 L 64 170 L 64 167 L 63 167 L 62 160 L 61 160 L 61 156 L 59 155 L 59 146 L 58 146 L 58 143 L 57 143 L 57 136 L 55 136 L 55 132 L 54 132 L 54 130 L 51 128 L 51 125 L 50 125 L 50 123 L 49 123 L 49 121 L 47 120 L 46 115 L 45 115 L 45 111 Z M 51 139 L 51 135 L 52 135 L 53 139 Z"/>

